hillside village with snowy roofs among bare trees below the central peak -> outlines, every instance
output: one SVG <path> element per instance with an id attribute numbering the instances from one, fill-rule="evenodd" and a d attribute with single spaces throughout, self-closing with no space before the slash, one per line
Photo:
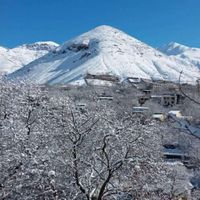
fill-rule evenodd
<path id="1" fill-rule="evenodd" d="M 119 110 L 125 109 L 136 117 L 145 116 L 165 124 L 168 133 L 163 135 L 163 158 L 177 173 L 180 173 L 181 167 L 183 174 L 188 174 L 185 177 L 182 174 L 187 186 L 183 180 L 179 180 L 177 191 L 180 192 L 183 189 L 181 187 L 189 187 L 189 192 L 200 189 L 197 161 L 197 151 L 200 150 L 200 112 L 199 107 L 195 110 L 193 102 L 186 96 L 198 99 L 199 84 L 179 84 L 136 77 L 128 77 L 119 83 L 119 79 L 111 75 L 91 74 L 86 75 L 85 83 L 85 86 L 63 85 L 59 89 L 73 97 L 77 109 L 82 112 L 94 109 L 92 107 L 97 102 Z M 180 195 L 179 199 L 184 198 Z"/>

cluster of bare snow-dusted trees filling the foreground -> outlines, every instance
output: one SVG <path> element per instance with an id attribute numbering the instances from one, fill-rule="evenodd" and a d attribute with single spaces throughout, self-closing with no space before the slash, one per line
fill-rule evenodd
<path id="1" fill-rule="evenodd" d="M 66 93 L 0 80 L 0 199 L 173 198 L 160 124 Z"/>

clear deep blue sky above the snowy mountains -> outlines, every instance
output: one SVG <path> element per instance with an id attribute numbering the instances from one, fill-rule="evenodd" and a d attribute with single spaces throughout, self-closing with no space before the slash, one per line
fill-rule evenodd
<path id="1" fill-rule="evenodd" d="M 99 25 L 154 47 L 200 47 L 200 0 L 0 0 L 0 46 L 63 43 Z"/>

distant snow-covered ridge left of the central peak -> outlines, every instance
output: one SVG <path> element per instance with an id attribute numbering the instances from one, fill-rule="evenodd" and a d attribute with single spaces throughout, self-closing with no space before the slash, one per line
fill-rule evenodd
<path id="1" fill-rule="evenodd" d="M 55 42 L 36 42 L 12 49 L 0 47 L 0 72 L 11 73 L 44 56 L 59 45 Z"/>

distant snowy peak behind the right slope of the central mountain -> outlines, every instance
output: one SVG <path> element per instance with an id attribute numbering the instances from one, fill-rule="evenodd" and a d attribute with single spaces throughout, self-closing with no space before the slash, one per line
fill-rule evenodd
<path id="1" fill-rule="evenodd" d="M 183 59 L 200 69 L 200 48 L 187 47 L 185 45 L 171 42 L 158 48 L 161 52 L 174 58 Z"/>

